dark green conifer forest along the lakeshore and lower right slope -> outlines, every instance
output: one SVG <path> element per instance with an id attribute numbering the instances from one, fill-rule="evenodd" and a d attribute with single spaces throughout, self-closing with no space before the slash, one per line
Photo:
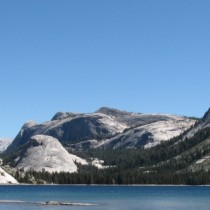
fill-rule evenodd
<path id="1" fill-rule="evenodd" d="M 86 159 L 104 160 L 109 167 L 103 170 L 79 166 L 78 173 L 73 174 L 31 171 L 21 176 L 16 172 L 15 178 L 27 183 L 35 179 L 58 184 L 210 184 L 210 128 L 191 138 L 184 136 L 150 149 L 74 151 Z"/>

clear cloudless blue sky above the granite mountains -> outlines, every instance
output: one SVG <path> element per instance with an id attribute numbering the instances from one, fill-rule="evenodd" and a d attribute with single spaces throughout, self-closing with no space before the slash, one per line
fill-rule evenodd
<path id="1" fill-rule="evenodd" d="M 0 73 L 0 137 L 101 106 L 201 117 L 210 1 L 0 1 Z"/>

